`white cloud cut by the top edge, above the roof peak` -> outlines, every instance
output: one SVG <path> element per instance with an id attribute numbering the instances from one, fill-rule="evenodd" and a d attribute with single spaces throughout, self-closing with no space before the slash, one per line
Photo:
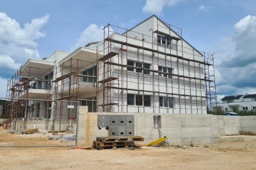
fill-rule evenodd
<path id="1" fill-rule="evenodd" d="M 182 0 L 147 0 L 142 11 L 145 13 L 162 14 L 164 6 L 173 6 Z"/>

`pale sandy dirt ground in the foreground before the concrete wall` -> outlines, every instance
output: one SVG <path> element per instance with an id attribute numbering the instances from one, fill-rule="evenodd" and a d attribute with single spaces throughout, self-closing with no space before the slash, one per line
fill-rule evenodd
<path id="1" fill-rule="evenodd" d="M 256 142 L 134 150 L 0 148 L 0 169 L 256 169 Z"/>

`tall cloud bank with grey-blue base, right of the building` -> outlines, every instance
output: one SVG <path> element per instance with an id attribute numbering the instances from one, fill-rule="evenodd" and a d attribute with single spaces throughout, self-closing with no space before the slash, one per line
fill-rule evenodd
<path id="1" fill-rule="evenodd" d="M 218 94 L 256 94 L 256 16 L 242 18 L 216 59 Z"/>

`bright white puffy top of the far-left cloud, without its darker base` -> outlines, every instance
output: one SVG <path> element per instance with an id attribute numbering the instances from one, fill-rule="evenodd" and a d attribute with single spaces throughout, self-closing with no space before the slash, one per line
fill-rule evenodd
<path id="1" fill-rule="evenodd" d="M 19 22 L 6 13 L 0 13 L 0 55 L 8 55 L 15 62 L 25 62 L 28 58 L 39 58 L 36 39 L 44 38 L 40 29 L 47 23 L 49 15 L 34 18 L 20 27 Z"/>

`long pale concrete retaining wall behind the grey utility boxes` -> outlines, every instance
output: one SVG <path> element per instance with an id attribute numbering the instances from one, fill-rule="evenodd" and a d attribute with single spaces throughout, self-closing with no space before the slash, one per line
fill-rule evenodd
<path id="1" fill-rule="evenodd" d="M 148 143 L 167 136 L 174 145 L 216 143 L 216 136 L 239 134 L 239 131 L 256 133 L 256 117 L 217 115 L 183 115 L 157 113 L 88 113 L 87 106 L 79 106 L 77 145 L 92 145 L 96 137 L 108 136 L 104 128 L 98 129 L 97 115 L 134 115 L 134 134 L 143 136 Z M 161 129 L 154 128 L 154 115 L 161 116 Z"/>

